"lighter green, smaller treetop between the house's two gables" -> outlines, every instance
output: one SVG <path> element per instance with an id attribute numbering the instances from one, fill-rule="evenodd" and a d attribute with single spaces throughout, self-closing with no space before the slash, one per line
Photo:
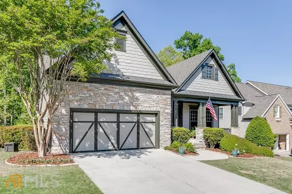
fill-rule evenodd
<path id="1" fill-rule="evenodd" d="M 183 61 L 183 54 L 174 49 L 172 45 L 161 49 L 157 56 L 165 67 Z"/>

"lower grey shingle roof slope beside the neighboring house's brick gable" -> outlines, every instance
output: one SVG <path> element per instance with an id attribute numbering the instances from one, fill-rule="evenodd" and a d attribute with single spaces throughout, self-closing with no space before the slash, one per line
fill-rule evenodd
<path id="1" fill-rule="evenodd" d="M 255 97 L 256 105 L 252 106 L 250 110 L 243 115 L 243 118 L 254 118 L 256 116 L 261 116 L 269 108 L 277 96 L 278 94 Z"/>

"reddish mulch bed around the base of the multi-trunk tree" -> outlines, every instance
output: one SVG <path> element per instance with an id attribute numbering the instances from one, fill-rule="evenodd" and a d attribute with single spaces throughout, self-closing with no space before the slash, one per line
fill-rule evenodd
<path id="1" fill-rule="evenodd" d="M 70 164 L 74 161 L 67 154 L 49 154 L 40 158 L 37 152 L 25 152 L 12 155 L 7 162 L 20 165 L 58 165 L 58 164 Z"/>

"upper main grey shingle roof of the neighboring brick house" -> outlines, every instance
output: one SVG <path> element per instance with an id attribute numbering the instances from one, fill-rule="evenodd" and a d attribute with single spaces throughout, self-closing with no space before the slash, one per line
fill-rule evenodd
<path id="1" fill-rule="evenodd" d="M 275 85 L 257 81 L 249 81 L 268 95 L 280 94 L 286 104 L 292 105 L 292 88 L 290 86 Z"/>

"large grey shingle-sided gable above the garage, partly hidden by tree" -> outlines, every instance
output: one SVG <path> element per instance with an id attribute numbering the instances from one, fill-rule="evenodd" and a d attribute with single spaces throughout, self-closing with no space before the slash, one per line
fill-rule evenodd
<path id="1" fill-rule="evenodd" d="M 176 82 L 171 77 L 171 75 L 168 73 L 168 71 L 164 68 L 164 66 L 161 64 L 155 53 L 150 49 L 144 38 L 141 36 L 141 34 L 137 31 L 135 26 L 132 24 L 128 16 L 125 14 L 124 11 L 120 12 L 117 16 L 115 16 L 113 19 L 113 27 L 117 30 L 123 30 L 127 32 L 127 42 L 132 44 L 132 47 L 135 47 L 134 49 L 139 49 L 139 53 L 133 52 L 135 54 L 136 59 L 133 59 L 133 56 L 131 53 L 127 53 L 123 51 L 117 51 L 117 54 L 120 54 L 120 61 L 123 61 L 126 65 L 120 65 L 122 62 L 119 61 L 119 59 L 115 59 L 115 55 L 113 56 L 113 61 L 111 61 L 108 65 L 110 67 L 112 74 L 121 74 L 126 75 L 126 71 L 130 71 L 131 74 L 128 76 L 137 76 L 137 77 L 144 77 L 144 78 L 154 78 L 157 80 L 165 80 L 169 81 L 172 84 L 176 85 Z M 127 44 L 126 42 L 126 44 Z M 127 47 L 127 46 L 126 46 Z M 130 47 L 130 46 L 129 46 Z M 132 49 L 132 48 L 131 48 Z M 127 56 L 126 56 L 127 55 Z M 129 55 L 129 56 L 128 56 Z M 117 57 L 116 57 L 117 58 Z M 150 62 L 153 66 L 149 66 L 149 63 L 145 63 L 145 59 L 148 59 L 148 62 Z M 144 61 L 143 61 L 144 60 Z M 133 62 L 134 61 L 134 62 Z M 124 69 L 124 72 L 119 71 L 117 67 L 122 66 Z M 153 67 L 155 69 L 153 69 Z M 148 70 L 148 75 L 144 76 L 142 70 Z M 135 73 L 136 72 L 136 73 Z M 126 75 L 127 76 L 127 75 Z"/>

